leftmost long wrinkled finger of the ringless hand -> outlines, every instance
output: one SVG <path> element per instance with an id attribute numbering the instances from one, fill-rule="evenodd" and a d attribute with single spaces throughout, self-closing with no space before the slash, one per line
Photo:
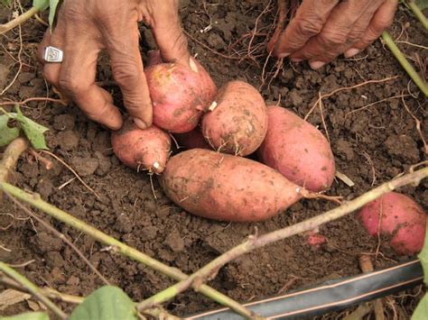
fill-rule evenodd
<path id="1" fill-rule="evenodd" d="M 303 0 L 295 17 L 277 41 L 274 55 L 284 58 L 301 49 L 309 39 L 321 32 L 331 11 L 338 3 L 339 0 Z"/>

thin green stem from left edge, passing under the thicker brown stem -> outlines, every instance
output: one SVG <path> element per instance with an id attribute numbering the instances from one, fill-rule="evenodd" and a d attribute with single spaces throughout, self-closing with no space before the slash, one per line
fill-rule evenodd
<path id="1" fill-rule="evenodd" d="M 19 187 L 14 187 L 4 181 L 0 181 L 0 189 L 27 204 L 37 207 L 38 209 L 42 210 L 42 212 L 46 213 L 47 215 L 51 215 L 52 217 L 60 220 L 62 223 L 70 225 L 80 232 L 88 234 L 99 242 L 110 246 L 112 251 L 117 251 L 126 257 L 141 262 L 147 267 L 157 270 L 172 279 L 180 281 L 187 278 L 187 275 L 181 272 L 181 270 L 169 267 L 147 256 L 143 252 L 137 251 L 125 243 L 117 241 L 115 238 L 108 236 L 106 233 L 100 232 L 98 229 L 90 226 L 89 224 L 85 224 L 74 216 L 60 210 L 56 206 L 52 206 L 51 204 L 43 201 L 37 194 L 27 193 Z M 230 307 L 239 315 L 247 318 L 256 318 L 256 315 L 253 312 L 247 310 L 246 307 L 240 305 L 232 298 L 223 295 L 214 288 L 210 288 L 207 285 L 201 285 L 199 290 L 203 295 L 217 301 L 220 305 Z"/>

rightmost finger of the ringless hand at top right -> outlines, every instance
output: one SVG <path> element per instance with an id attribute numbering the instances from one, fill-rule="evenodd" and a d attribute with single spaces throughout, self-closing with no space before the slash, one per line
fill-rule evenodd
<path id="1" fill-rule="evenodd" d="M 386 0 L 385 4 L 379 7 L 376 14 L 371 19 L 368 29 L 362 39 L 349 49 L 345 55 L 348 57 L 355 55 L 359 51 L 365 49 L 370 43 L 376 41 L 382 32 L 393 23 L 397 5 L 397 0 Z"/>

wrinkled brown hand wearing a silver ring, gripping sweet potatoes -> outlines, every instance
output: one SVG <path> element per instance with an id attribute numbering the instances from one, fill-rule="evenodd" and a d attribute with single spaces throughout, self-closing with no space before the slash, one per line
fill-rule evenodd
<path id="1" fill-rule="evenodd" d="M 165 61 L 189 65 L 187 39 L 181 31 L 179 0 L 66 0 L 53 32 L 47 31 L 39 48 L 63 50 L 61 63 L 45 63 L 44 77 L 74 100 L 88 117 L 108 128 L 122 126 L 113 98 L 95 83 L 97 59 L 107 50 L 113 76 L 135 124 L 152 124 L 152 102 L 139 50 L 138 22 L 154 32 Z M 44 61 L 42 61 L 44 62 Z"/>

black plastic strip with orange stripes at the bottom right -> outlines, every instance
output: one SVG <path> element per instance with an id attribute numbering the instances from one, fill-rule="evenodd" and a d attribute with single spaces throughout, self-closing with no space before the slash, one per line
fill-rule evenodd
<path id="1" fill-rule="evenodd" d="M 248 309 L 269 319 L 293 319 L 322 315 L 362 302 L 386 297 L 423 282 L 419 260 L 408 261 L 385 270 L 377 270 L 345 279 L 335 279 L 314 288 L 249 303 Z M 213 310 L 186 319 L 241 320 L 228 308 Z"/>

